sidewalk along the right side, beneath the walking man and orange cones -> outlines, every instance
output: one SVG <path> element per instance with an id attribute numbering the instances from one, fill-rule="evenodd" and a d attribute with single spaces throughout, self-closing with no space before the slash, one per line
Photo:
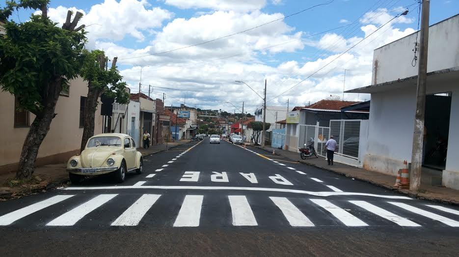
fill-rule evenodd
<path id="1" fill-rule="evenodd" d="M 331 171 L 334 173 L 338 173 L 347 177 L 351 177 L 354 179 L 362 180 L 369 182 L 373 185 L 377 185 L 392 191 L 396 191 L 410 197 L 415 197 L 418 199 L 424 200 L 431 200 L 436 202 L 442 202 L 447 204 L 455 204 L 459 205 L 459 191 L 454 190 L 451 188 L 441 187 L 441 186 L 431 186 L 426 184 L 421 184 L 421 189 L 419 192 L 410 191 L 406 189 L 400 189 L 394 187 L 396 177 L 390 174 L 379 173 L 375 171 L 367 171 L 360 168 L 352 167 L 349 165 L 341 164 L 341 163 L 334 163 L 333 166 L 328 166 L 327 162 L 324 157 L 319 158 L 308 158 L 306 160 L 301 160 L 299 157 L 299 153 L 287 151 L 287 150 L 280 150 L 276 148 L 272 148 L 270 146 L 265 146 L 262 148 L 261 146 L 254 146 L 259 149 L 263 149 L 269 153 L 275 151 L 275 154 L 279 156 L 284 156 L 290 160 L 297 161 L 302 164 L 315 166 L 317 168 Z"/>

